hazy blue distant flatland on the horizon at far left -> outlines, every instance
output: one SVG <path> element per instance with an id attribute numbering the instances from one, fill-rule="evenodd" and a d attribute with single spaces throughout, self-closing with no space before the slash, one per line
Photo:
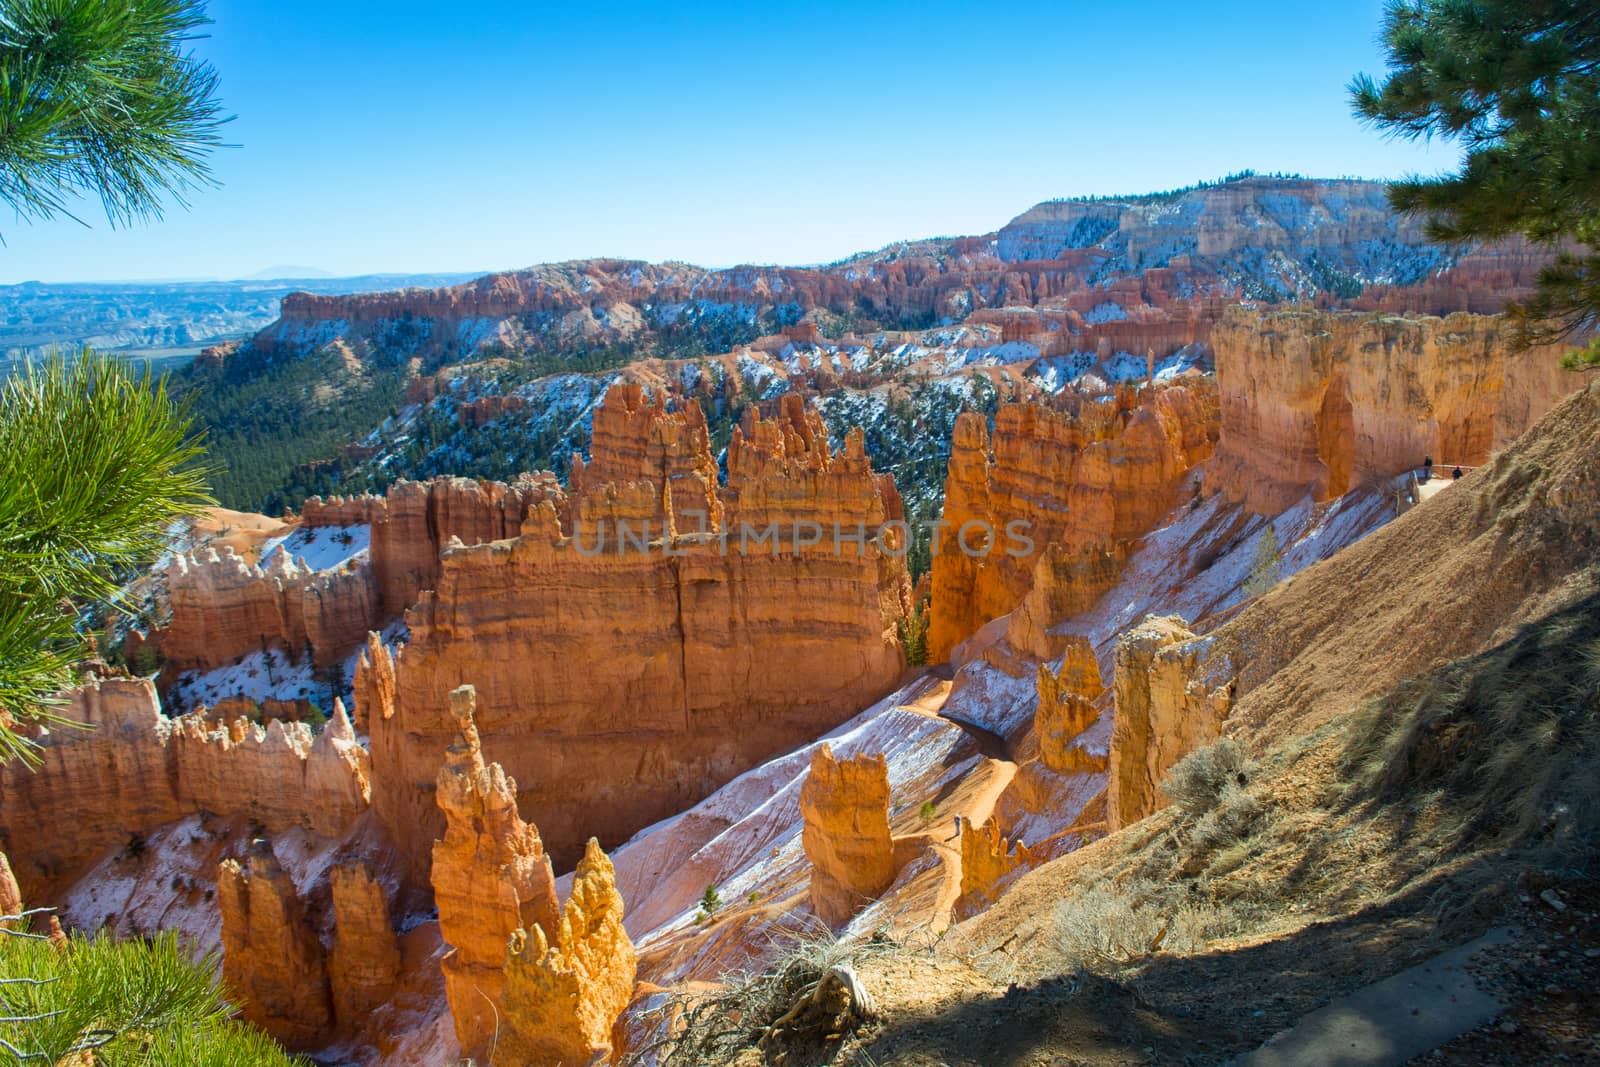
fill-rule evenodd
<path id="1" fill-rule="evenodd" d="M 237 282 L 22 282 L 0 285 L 0 365 L 53 346 L 144 355 L 192 355 L 248 338 L 278 317 L 291 291 L 368 293 L 442 286 L 470 274 L 374 274 L 352 278 L 288 277 Z M 304 267 L 285 267 L 304 270 Z"/>

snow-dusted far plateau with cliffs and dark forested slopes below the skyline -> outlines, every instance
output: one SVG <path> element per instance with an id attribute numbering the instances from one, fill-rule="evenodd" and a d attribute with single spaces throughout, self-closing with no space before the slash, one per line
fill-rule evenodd
<path id="1" fill-rule="evenodd" d="M 1203 366 L 1240 301 L 1498 312 L 1542 253 L 1427 242 L 1381 182 L 1237 176 L 1037 205 L 992 234 L 826 266 L 582 259 L 448 286 L 283 298 L 182 370 L 232 507 L 398 477 L 566 470 L 618 376 L 701 400 L 717 448 L 749 405 L 814 398 L 866 429 L 907 514 L 936 514 L 955 413 Z M 842 445 L 842 442 L 835 442 Z"/>

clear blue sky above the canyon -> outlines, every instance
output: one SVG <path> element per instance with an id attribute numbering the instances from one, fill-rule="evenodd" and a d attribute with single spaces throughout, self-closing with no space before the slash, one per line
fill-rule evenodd
<path id="1" fill-rule="evenodd" d="M 0 282 L 821 262 L 1229 171 L 1395 178 L 1381 0 L 211 0 L 238 147 L 189 211 L 0 219 Z"/>

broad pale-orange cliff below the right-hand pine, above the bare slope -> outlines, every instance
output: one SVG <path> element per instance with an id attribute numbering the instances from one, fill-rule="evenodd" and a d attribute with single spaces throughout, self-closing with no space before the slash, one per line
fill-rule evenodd
<path id="1" fill-rule="evenodd" d="M 1206 474 L 1258 514 L 1422 466 L 1478 466 L 1584 378 L 1499 317 L 1234 309 L 1213 328 L 1222 435 Z"/>

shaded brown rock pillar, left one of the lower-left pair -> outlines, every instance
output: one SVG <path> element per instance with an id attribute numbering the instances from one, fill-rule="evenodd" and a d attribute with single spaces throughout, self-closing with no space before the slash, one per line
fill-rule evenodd
<path id="1" fill-rule="evenodd" d="M 240 1011 L 283 1045 L 317 1045 L 333 1024 L 328 968 L 294 880 L 270 845 L 248 861 L 222 861 L 216 873 L 222 913 L 222 981 Z"/>

